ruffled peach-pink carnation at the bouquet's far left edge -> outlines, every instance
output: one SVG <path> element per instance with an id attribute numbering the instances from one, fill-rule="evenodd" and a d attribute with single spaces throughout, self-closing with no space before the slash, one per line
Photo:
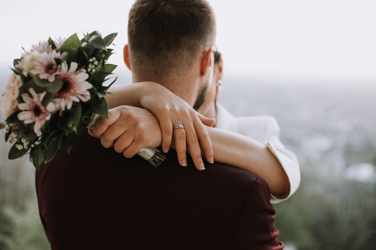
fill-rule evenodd
<path id="1" fill-rule="evenodd" d="M 20 88 L 21 85 L 21 78 L 15 73 L 12 73 L 5 79 L 5 86 L 2 93 L 3 102 L 1 105 L 4 120 L 17 111 L 18 102 L 16 99 L 18 97 L 18 88 Z"/>

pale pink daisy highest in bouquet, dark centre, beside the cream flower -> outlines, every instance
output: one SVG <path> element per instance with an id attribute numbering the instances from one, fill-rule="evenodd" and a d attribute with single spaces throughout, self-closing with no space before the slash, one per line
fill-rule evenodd
<path id="1" fill-rule="evenodd" d="M 43 52 L 39 55 L 39 59 L 34 62 L 35 68 L 30 72 L 34 75 L 39 75 L 41 79 L 48 79 L 49 82 L 55 81 L 55 75 L 60 73 L 61 65 L 57 65 L 55 58 L 62 59 L 65 52 L 60 55 L 53 50 L 51 53 Z"/>

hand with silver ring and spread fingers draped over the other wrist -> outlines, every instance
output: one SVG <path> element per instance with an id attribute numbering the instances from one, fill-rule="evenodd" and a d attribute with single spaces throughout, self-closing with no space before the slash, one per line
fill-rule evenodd
<path id="1" fill-rule="evenodd" d="M 155 82 L 142 83 L 139 105 L 152 112 L 158 119 L 162 130 L 162 149 L 168 151 L 174 137 L 180 165 L 186 165 L 186 145 L 188 145 L 194 165 L 203 169 L 200 145 L 205 159 L 214 162 L 212 144 L 206 126 L 214 126 L 215 119 L 209 119 L 196 112 L 188 103 L 167 88 Z M 184 129 L 173 129 L 175 125 Z"/>

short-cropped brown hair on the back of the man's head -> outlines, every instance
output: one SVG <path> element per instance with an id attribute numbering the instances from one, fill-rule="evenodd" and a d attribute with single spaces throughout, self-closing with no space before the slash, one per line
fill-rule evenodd
<path id="1" fill-rule="evenodd" d="M 132 70 L 158 79 L 181 76 L 214 35 L 214 13 L 205 0 L 137 0 L 128 21 Z"/>

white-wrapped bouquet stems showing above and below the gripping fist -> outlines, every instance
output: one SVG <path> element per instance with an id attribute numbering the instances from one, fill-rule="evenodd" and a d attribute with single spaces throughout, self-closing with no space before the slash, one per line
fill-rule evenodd
<path id="1" fill-rule="evenodd" d="M 92 129 L 97 120 L 101 117 L 99 114 L 92 114 L 89 120 L 89 124 L 86 128 Z M 143 157 L 147 162 L 157 168 L 166 159 L 165 153 L 157 148 L 143 148 L 137 153 L 139 156 Z"/>

